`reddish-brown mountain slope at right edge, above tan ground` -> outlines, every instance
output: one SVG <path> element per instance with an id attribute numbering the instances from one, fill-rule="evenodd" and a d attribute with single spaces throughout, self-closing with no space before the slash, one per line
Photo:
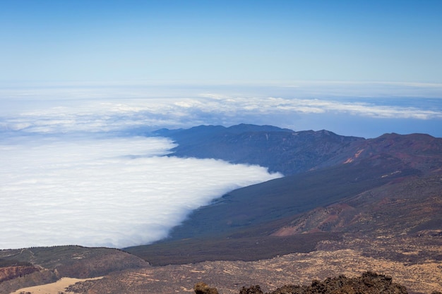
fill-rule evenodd
<path id="1" fill-rule="evenodd" d="M 442 236 L 441 176 L 397 178 L 388 185 L 294 216 L 273 235 L 309 232 L 357 233 L 373 238 Z"/>

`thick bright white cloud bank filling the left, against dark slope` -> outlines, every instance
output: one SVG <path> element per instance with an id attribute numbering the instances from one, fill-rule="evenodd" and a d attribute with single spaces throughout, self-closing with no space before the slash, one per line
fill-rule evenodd
<path id="1" fill-rule="evenodd" d="M 153 242 L 192 209 L 279 176 L 259 166 L 157 156 L 172 146 L 145 137 L 3 142 L 0 246 Z"/>

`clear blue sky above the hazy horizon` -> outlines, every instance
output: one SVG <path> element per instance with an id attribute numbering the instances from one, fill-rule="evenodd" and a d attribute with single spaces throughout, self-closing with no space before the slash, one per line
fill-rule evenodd
<path id="1" fill-rule="evenodd" d="M 442 82 L 442 1 L 1 1 L 0 80 Z"/>

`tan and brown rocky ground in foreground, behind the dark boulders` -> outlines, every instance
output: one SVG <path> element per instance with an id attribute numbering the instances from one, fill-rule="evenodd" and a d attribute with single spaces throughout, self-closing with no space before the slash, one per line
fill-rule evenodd
<path id="1" fill-rule="evenodd" d="M 371 250 L 366 251 L 367 248 Z M 193 286 L 200 281 L 221 294 L 236 294 L 243 286 L 251 285 L 260 285 L 267 292 L 282 285 L 308 285 L 313 280 L 339 275 L 354 278 L 365 271 L 391 276 L 408 293 L 442 290 L 439 238 L 429 242 L 398 238 L 374 243 L 370 239 L 347 238 L 321 244 L 318 249 L 254 262 L 215 261 L 129 269 L 79 283 L 74 293 L 193 293 Z M 398 256 L 409 258 L 392 259 Z"/>

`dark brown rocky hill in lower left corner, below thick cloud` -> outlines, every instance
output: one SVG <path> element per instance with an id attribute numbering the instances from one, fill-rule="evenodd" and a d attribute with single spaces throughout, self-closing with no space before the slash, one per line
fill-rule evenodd
<path id="1" fill-rule="evenodd" d="M 0 293 L 54 283 L 63 277 L 95 278 L 114 271 L 149 266 L 139 257 L 110 248 L 56 246 L 0 250 L 0 273 L 4 277 L 0 281 Z"/>

